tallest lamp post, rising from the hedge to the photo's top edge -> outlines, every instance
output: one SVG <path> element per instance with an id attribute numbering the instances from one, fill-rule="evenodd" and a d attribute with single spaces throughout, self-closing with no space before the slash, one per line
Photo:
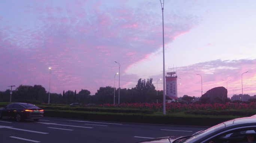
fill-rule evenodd
<path id="1" fill-rule="evenodd" d="M 163 114 L 165 115 L 165 63 L 164 63 L 164 0 L 163 3 L 160 0 L 162 7 L 162 19 L 163 19 Z"/>

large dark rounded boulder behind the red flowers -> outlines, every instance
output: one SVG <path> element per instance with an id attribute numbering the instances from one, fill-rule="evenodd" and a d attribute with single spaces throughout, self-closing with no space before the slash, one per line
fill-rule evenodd
<path id="1" fill-rule="evenodd" d="M 225 103 L 227 99 L 228 91 L 223 86 L 208 90 L 200 98 L 204 103 Z"/>

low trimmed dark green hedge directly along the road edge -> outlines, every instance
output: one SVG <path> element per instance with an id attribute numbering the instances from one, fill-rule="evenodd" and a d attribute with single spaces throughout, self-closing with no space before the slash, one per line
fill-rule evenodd
<path id="1" fill-rule="evenodd" d="M 157 115 L 128 114 L 107 112 L 85 112 L 70 110 L 45 110 L 46 117 L 62 117 L 82 120 L 118 121 L 130 123 L 153 123 L 170 125 L 201 125 L 212 126 L 223 121 L 238 118 L 238 116 L 212 115 Z"/>

